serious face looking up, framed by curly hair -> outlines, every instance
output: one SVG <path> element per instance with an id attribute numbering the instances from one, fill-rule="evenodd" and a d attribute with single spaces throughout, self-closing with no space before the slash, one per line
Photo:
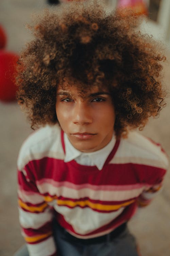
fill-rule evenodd
<path id="1" fill-rule="evenodd" d="M 94 86 L 82 96 L 76 86 L 59 86 L 56 114 L 71 144 L 82 152 L 100 150 L 112 139 L 115 110 L 106 88 Z"/>

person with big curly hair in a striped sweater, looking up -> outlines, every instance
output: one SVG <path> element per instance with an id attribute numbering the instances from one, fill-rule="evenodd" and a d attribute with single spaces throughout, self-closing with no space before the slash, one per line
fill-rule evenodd
<path id="1" fill-rule="evenodd" d="M 46 10 L 18 62 L 35 130 L 18 156 L 27 243 L 15 255 L 136 256 L 128 221 L 162 186 L 168 159 L 141 135 L 165 105 L 162 49 L 142 18 L 98 1 Z"/>

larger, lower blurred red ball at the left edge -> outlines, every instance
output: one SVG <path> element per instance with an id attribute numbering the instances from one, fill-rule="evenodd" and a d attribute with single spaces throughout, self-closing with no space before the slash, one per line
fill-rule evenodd
<path id="1" fill-rule="evenodd" d="M 12 52 L 0 51 L 0 100 L 15 100 L 17 86 L 14 82 L 19 56 Z"/>

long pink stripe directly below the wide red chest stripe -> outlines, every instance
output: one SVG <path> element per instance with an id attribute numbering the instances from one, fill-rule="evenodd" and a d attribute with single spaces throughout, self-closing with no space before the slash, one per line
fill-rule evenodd
<path id="1" fill-rule="evenodd" d="M 36 181 L 37 185 L 42 185 L 44 183 L 48 183 L 54 187 L 66 187 L 66 188 L 73 188 L 76 190 L 79 189 L 83 189 L 83 188 L 89 188 L 92 190 L 108 190 L 108 191 L 122 191 L 122 190 L 132 190 L 132 189 L 138 189 L 138 188 L 142 188 L 142 187 L 150 187 L 149 184 L 140 184 L 140 183 L 136 183 L 136 184 L 131 184 L 131 185 L 91 185 L 91 184 L 81 184 L 81 185 L 77 185 L 68 181 L 63 181 L 63 182 L 57 182 L 54 181 L 52 179 L 41 179 L 39 181 Z"/>

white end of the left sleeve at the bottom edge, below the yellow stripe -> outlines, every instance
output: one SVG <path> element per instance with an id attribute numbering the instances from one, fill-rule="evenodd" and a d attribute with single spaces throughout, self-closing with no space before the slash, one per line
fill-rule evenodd
<path id="1" fill-rule="evenodd" d="M 53 237 L 38 244 L 27 244 L 29 256 L 49 256 L 55 253 L 56 247 Z"/>

